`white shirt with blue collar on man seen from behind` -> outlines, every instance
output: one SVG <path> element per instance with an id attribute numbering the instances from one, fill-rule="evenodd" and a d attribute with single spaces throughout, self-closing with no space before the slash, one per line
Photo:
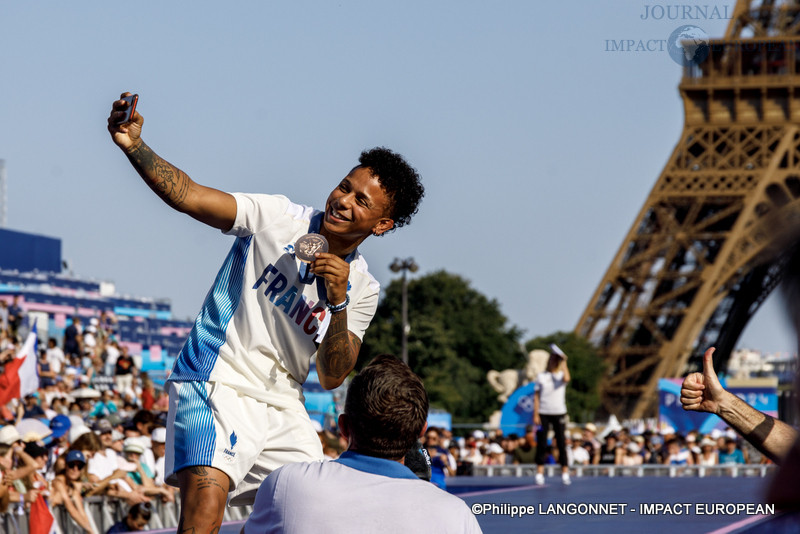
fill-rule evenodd
<path id="1" fill-rule="evenodd" d="M 288 464 L 256 495 L 244 534 L 480 534 L 467 504 L 399 462 L 346 451 Z"/>

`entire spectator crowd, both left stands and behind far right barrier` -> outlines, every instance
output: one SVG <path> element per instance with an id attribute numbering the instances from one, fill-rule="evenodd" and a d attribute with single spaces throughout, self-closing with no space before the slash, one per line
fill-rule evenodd
<path id="1" fill-rule="evenodd" d="M 0 302 L 0 365 L 17 353 L 24 321 L 19 307 Z M 177 490 L 164 484 L 168 399 L 140 372 L 117 339 L 111 314 L 76 317 L 63 343 L 50 339 L 38 357 L 39 389 L 0 406 L 0 510 L 25 511 L 40 495 L 63 506 L 75 524 L 95 533 L 83 499 L 106 496 L 124 502 L 126 525 L 146 524 L 154 499 L 171 502 Z M 38 422 L 38 424 L 36 424 Z M 346 442 L 335 428 L 317 426 L 327 458 Z M 723 465 L 767 462 L 733 431 L 686 435 L 628 429 L 598 433 L 594 424 L 567 432 L 570 466 L 613 464 Z M 547 463 L 558 464 L 552 440 Z M 429 427 L 422 441 L 431 461 L 431 482 L 444 488 L 448 477 L 470 475 L 475 465 L 533 464 L 536 433 L 475 430 L 454 436 Z M 120 530 L 122 529 L 122 530 Z"/>

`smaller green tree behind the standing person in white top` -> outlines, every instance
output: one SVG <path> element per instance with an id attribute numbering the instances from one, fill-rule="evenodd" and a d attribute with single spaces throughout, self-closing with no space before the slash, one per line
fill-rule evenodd
<path id="1" fill-rule="evenodd" d="M 599 385 L 606 372 L 605 362 L 598 356 L 594 345 L 574 332 L 536 337 L 525 343 L 525 348 L 549 352 L 551 343 L 561 347 L 569 357 L 567 363 L 572 380 L 567 386 L 567 410 L 570 417 L 582 423 L 593 420 L 600 408 Z"/>

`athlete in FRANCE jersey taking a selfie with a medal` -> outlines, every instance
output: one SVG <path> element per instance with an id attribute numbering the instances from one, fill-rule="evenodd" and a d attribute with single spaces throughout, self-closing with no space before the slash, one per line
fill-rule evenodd
<path id="1" fill-rule="evenodd" d="M 280 465 L 322 458 L 303 407 L 309 361 L 316 354 L 326 389 L 353 370 L 378 304 L 357 247 L 407 224 L 424 189 L 401 156 L 378 148 L 361 154 L 324 211 L 225 193 L 155 154 L 139 113 L 118 124 L 127 107 L 114 102 L 108 130 L 145 183 L 174 209 L 236 236 L 168 386 L 166 471 L 181 491 L 178 530 L 213 532 L 229 498 L 251 502 Z M 307 233 L 329 244 L 311 263 L 294 250 Z"/>

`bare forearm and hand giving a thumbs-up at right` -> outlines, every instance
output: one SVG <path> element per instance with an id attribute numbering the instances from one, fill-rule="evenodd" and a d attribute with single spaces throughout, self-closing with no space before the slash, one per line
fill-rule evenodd
<path id="1" fill-rule="evenodd" d="M 755 448 L 781 463 L 797 439 L 797 431 L 726 391 L 714 371 L 713 354 L 711 347 L 703 356 L 703 372 L 692 373 L 683 380 L 683 409 L 718 415 Z"/>

